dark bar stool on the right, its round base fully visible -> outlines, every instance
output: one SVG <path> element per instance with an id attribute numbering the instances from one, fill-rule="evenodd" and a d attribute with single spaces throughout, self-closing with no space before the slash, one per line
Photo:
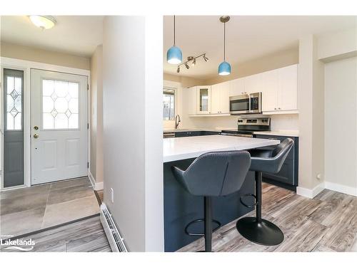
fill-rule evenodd
<path id="1" fill-rule="evenodd" d="M 275 246 L 284 240 L 284 234 L 271 221 L 261 219 L 261 179 L 262 172 L 278 173 L 283 162 L 285 162 L 288 152 L 293 147 L 293 140 L 286 138 L 274 150 L 251 150 L 251 167 L 249 170 L 256 172 L 256 194 L 248 194 L 256 199 L 256 217 L 244 217 L 237 221 L 238 232 L 249 241 L 264 246 Z M 244 197 L 246 197 L 244 196 Z M 241 203 L 245 204 L 242 199 Z M 253 207 L 248 206 L 248 207 Z"/>

